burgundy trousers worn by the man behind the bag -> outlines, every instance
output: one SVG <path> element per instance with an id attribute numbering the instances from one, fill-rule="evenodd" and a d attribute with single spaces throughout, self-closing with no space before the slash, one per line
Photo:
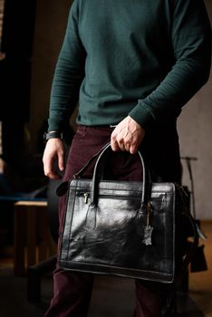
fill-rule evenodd
<path id="1" fill-rule="evenodd" d="M 110 127 L 79 126 L 72 140 L 63 179 L 70 179 L 103 145 L 111 139 Z M 83 178 L 92 178 L 91 166 Z M 142 168 L 137 155 L 114 152 L 106 168 L 107 179 L 140 180 Z M 63 230 L 65 197 L 59 206 L 59 243 Z M 53 299 L 44 317 L 86 317 L 92 296 L 93 274 L 74 273 L 56 268 L 53 274 Z M 162 283 L 135 281 L 136 304 L 134 317 L 159 317 L 166 302 L 169 287 Z M 103 310 L 103 307 L 102 307 Z M 100 316 L 101 317 L 101 316 Z"/>

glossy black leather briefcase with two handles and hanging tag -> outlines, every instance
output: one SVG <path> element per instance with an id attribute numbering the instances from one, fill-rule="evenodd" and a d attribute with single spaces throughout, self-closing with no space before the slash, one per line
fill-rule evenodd
<path id="1" fill-rule="evenodd" d="M 102 180 L 106 152 L 112 155 L 110 145 L 98 153 L 92 179 L 80 178 L 86 165 L 58 187 L 59 196 L 67 190 L 58 264 L 72 271 L 172 283 L 181 221 L 192 221 L 184 190 L 174 183 L 151 183 L 140 152 L 142 181 Z"/>

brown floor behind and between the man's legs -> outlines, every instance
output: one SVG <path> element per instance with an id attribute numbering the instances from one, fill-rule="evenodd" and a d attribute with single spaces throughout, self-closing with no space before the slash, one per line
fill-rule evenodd
<path id="1" fill-rule="evenodd" d="M 201 240 L 200 245 L 205 245 L 208 270 L 189 273 L 189 292 L 178 294 L 178 315 L 181 317 L 212 317 L 212 221 L 201 222 L 201 228 L 207 235 L 207 240 Z M 26 278 L 6 276 L 5 267 L 12 270 L 11 259 L 0 261 L 0 316 L 43 317 L 46 307 L 27 303 Z M 47 301 L 51 298 L 52 287 L 51 279 L 43 281 L 43 298 Z M 134 301 L 132 280 L 96 276 L 89 317 L 130 317 Z"/>

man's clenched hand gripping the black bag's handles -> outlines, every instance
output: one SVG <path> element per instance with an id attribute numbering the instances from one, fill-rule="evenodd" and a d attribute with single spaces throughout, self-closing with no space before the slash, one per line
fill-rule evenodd
<path id="1" fill-rule="evenodd" d="M 111 133 L 111 149 L 135 154 L 144 138 L 145 130 L 130 116 L 120 121 Z"/>

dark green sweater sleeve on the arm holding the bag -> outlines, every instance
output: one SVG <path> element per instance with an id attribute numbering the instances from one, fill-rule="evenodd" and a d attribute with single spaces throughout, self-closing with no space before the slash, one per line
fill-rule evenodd
<path id="1" fill-rule="evenodd" d="M 157 89 L 130 111 L 130 117 L 145 129 L 152 120 L 178 115 L 209 76 L 211 28 L 203 1 L 175 0 L 172 16 L 175 63 Z"/>

